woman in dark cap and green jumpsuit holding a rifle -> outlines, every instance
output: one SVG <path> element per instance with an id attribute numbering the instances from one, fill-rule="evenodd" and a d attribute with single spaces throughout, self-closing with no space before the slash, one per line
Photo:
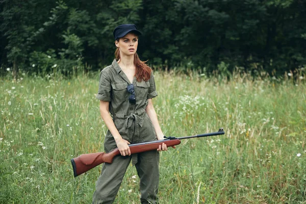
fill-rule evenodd
<path id="1" fill-rule="evenodd" d="M 96 98 L 100 100 L 100 114 L 109 129 L 105 151 L 118 147 L 121 156 L 126 157 L 115 157 L 112 164 L 104 163 L 93 203 L 113 203 L 131 160 L 140 177 L 141 203 L 158 203 L 158 151 L 167 150 L 167 146 L 163 143 L 157 151 L 133 155 L 128 146 L 164 137 L 152 104 L 152 98 L 157 96 L 154 75 L 136 53 L 141 35 L 136 26 L 119 25 L 113 34 L 118 61 L 115 59 L 100 72 Z"/>

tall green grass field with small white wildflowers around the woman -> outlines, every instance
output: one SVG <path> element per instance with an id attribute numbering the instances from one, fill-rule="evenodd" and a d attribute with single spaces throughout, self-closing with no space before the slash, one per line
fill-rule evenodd
<path id="1" fill-rule="evenodd" d="M 229 81 L 155 71 L 164 134 L 182 140 L 160 157 L 160 203 L 306 203 L 305 76 Z M 90 203 L 98 166 L 73 177 L 70 159 L 103 151 L 98 73 L 0 79 L 0 203 Z M 139 203 L 129 167 L 115 203 Z"/>

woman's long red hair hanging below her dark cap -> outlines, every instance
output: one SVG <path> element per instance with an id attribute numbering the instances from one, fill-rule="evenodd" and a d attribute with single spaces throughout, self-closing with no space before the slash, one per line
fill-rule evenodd
<path id="1" fill-rule="evenodd" d="M 115 51 L 115 58 L 116 60 L 120 59 L 120 51 L 119 48 Z M 137 53 L 134 54 L 134 65 L 136 67 L 135 70 L 135 77 L 137 82 L 141 82 L 141 80 L 144 80 L 145 82 L 148 81 L 151 77 L 151 68 L 146 65 L 147 61 L 141 61 L 137 55 Z"/>

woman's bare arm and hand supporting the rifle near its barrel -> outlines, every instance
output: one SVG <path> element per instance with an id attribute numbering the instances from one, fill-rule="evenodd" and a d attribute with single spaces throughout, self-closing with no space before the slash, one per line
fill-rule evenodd
<path id="1" fill-rule="evenodd" d="M 157 114 L 155 112 L 153 103 L 152 103 L 152 99 L 148 99 L 148 105 L 145 109 L 145 112 L 148 114 L 149 118 L 152 121 L 152 124 L 154 126 L 155 132 L 156 132 L 156 136 L 158 140 L 163 140 L 164 139 L 164 134 L 163 131 L 161 129 L 161 126 L 159 125 L 159 121 L 157 119 Z M 158 151 L 161 150 L 167 150 L 167 145 L 165 143 L 163 143 L 163 145 L 160 145 L 159 148 L 157 149 Z"/>

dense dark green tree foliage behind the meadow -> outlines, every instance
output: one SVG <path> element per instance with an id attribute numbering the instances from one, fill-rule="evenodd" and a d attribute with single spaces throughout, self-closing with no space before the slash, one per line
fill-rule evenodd
<path id="1" fill-rule="evenodd" d="M 305 11 L 301 0 L 0 0 L 0 65 L 101 69 L 116 25 L 135 23 L 150 65 L 284 73 L 306 64 Z"/>

